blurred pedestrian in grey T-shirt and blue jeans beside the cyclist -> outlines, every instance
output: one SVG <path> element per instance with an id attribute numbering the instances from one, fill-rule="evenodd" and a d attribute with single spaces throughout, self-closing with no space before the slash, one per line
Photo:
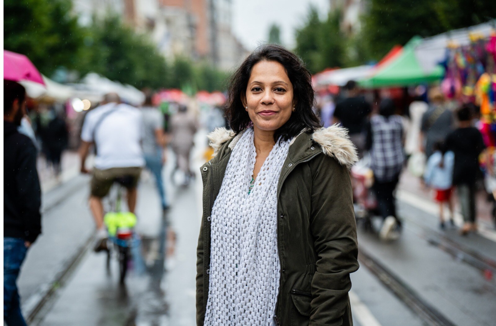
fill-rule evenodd
<path id="1" fill-rule="evenodd" d="M 165 147 L 167 145 L 164 133 L 164 116 L 153 105 L 153 93 L 145 90 L 145 102 L 141 108 L 143 114 L 143 155 L 146 168 L 150 170 L 155 178 L 162 210 L 167 210 L 169 204 L 165 193 L 165 185 L 162 178 L 162 170 L 167 159 Z"/>

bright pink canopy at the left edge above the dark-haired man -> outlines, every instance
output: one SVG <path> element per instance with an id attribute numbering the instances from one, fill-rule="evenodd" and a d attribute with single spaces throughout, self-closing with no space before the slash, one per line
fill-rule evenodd
<path id="1" fill-rule="evenodd" d="M 28 57 L 7 50 L 3 50 L 3 79 L 29 80 L 45 85 L 41 73 Z"/>

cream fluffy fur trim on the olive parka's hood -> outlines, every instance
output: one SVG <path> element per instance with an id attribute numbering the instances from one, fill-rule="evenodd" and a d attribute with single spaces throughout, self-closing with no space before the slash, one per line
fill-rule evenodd
<path id="1" fill-rule="evenodd" d="M 214 149 L 214 155 L 217 154 L 221 146 L 231 138 L 234 139 L 229 143 L 229 147 L 231 149 L 234 148 L 243 132 L 244 131 L 241 131 L 236 135 L 234 131 L 227 130 L 226 128 L 217 128 L 210 132 L 208 134 L 208 139 L 210 140 L 210 146 Z M 294 137 L 291 140 L 291 145 L 295 142 L 296 138 L 303 133 L 304 132 Z M 311 134 L 311 139 L 313 142 L 320 145 L 322 152 L 325 155 L 334 157 L 341 165 L 351 168 L 351 166 L 358 161 L 357 150 L 348 136 L 348 130 L 337 124 L 328 128 L 315 130 Z"/>

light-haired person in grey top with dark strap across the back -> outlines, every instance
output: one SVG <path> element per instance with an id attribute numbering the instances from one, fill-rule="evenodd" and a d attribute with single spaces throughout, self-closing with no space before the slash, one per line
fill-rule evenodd
<path id="1" fill-rule="evenodd" d="M 453 130 L 453 113 L 449 110 L 444 95 L 438 86 L 429 90 L 429 109 L 422 116 L 421 146 L 430 157 L 434 143 L 444 141 L 448 133 Z"/>

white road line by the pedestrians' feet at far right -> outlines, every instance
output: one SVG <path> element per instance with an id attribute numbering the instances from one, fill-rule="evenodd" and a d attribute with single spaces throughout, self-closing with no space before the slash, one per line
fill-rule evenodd
<path id="1" fill-rule="evenodd" d="M 422 209 L 423 211 L 436 215 L 439 213 L 439 207 L 437 206 L 436 203 L 430 201 L 429 199 L 423 198 L 421 196 L 415 195 L 411 192 L 405 191 L 405 190 L 397 190 L 396 191 L 396 198 L 398 200 L 404 201 L 412 206 L 415 206 L 419 209 Z M 459 212 L 455 211 L 455 224 L 458 227 L 461 227 L 463 225 L 463 217 Z M 487 225 L 478 223 L 477 224 L 479 230 L 478 233 L 483 236 L 484 238 L 496 242 L 496 232 L 488 228 Z"/>

